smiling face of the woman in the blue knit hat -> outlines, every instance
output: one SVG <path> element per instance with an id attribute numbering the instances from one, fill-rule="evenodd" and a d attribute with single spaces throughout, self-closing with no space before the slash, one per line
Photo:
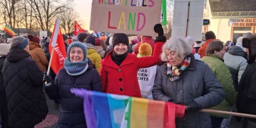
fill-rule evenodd
<path id="1" fill-rule="evenodd" d="M 84 52 L 80 47 L 72 47 L 69 52 L 70 62 L 82 62 L 84 60 Z"/>

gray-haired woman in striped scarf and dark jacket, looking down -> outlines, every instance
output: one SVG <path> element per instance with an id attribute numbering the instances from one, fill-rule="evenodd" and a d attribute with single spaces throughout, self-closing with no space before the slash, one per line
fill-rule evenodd
<path id="1" fill-rule="evenodd" d="M 219 104 L 224 91 L 211 69 L 191 54 L 191 46 L 172 38 L 162 47 L 160 66 L 152 90 L 155 100 L 187 105 L 184 119 L 176 118 L 177 128 L 211 128 L 209 113 L 199 112 Z"/>

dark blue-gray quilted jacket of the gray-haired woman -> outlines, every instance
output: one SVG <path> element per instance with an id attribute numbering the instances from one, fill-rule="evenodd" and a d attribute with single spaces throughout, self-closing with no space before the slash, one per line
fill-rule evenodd
<path id="1" fill-rule="evenodd" d="M 189 105 L 195 101 L 199 108 L 209 108 L 224 99 L 224 91 L 212 70 L 193 55 L 190 65 L 180 74 L 180 79 L 171 82 L 167 75 L 167 65 L 158 70 L 152 90 L 155 100 L 170 101 Z M 183 119 L 176 119 L 176 128 L 211 128 L 209 113 L 186 112 Z"/>

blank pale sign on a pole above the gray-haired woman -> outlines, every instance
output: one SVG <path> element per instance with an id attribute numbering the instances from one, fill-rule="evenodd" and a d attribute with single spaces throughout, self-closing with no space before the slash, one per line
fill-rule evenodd
<path id="1" fill-rule="evenodd" d="M 192 36 L 195 40 L 202 39 L 203 6 L 203 0 L 174 1 L 172 38 Z"/>

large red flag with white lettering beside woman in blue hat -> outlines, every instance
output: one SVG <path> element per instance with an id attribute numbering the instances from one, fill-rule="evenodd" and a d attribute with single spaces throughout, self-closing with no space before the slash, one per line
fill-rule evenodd
<path id="1" fill-rule="evenodd" d="M 59 33 L 58 33 L 58 37 L 57 37 L 57 41 L 56 41 L 56 45 L 54 48 L 54 53 L 52 56 L 52 63 L 51 63 L 51 68 L 54 71 L 55 74 L 58 74 L 59 70 L 61 68 L 63 68 L 63 64 L 64 64 L 64 60 L 66 58 L 66 50 L 65 50 L 65 45 L 64 45 L 64 40 L 63 40 L 63 36 L 62 36 L 62 32 L 61 32 L 61 28 L 59 28 Z M 55 27 L 53 30 L 53 33 L 55 31 Z M 53 39 L 53 34 L 51 37 L 51 41 L 49 44 L 49 52 L 50 55 L 52 53 L 52 39 Z"/>

